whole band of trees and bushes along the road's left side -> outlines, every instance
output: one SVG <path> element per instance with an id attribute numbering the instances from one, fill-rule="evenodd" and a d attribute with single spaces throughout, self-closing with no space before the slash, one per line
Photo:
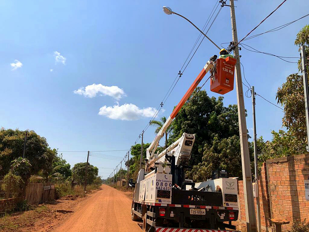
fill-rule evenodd
<path id="1" fill-rule="evenodd" d="M 71 168 L 57 149 L 49 147 L 46 139 L 35 131 L 27 131 L 25 158 L 23 156 L 26 131 L 18 129 L 0 130 L 0 199 L 24 196 L 29 183 L 55 185 L 55 199 L 67 195 L 85 196 L 102 184 L 99 169 L 88 163 L 87 188 L 83 190 L 86 162 Z M 73 171 L 74 170 L 74 171 Z M 74 189 L 73 186 L 74 177 Z M 25 211 L 35 208 L 23 201 L 11 211 Z M 7 213 L 7 212 L 5 212 Z M 2 212 L 3 216 L 3 212 Z"/>

